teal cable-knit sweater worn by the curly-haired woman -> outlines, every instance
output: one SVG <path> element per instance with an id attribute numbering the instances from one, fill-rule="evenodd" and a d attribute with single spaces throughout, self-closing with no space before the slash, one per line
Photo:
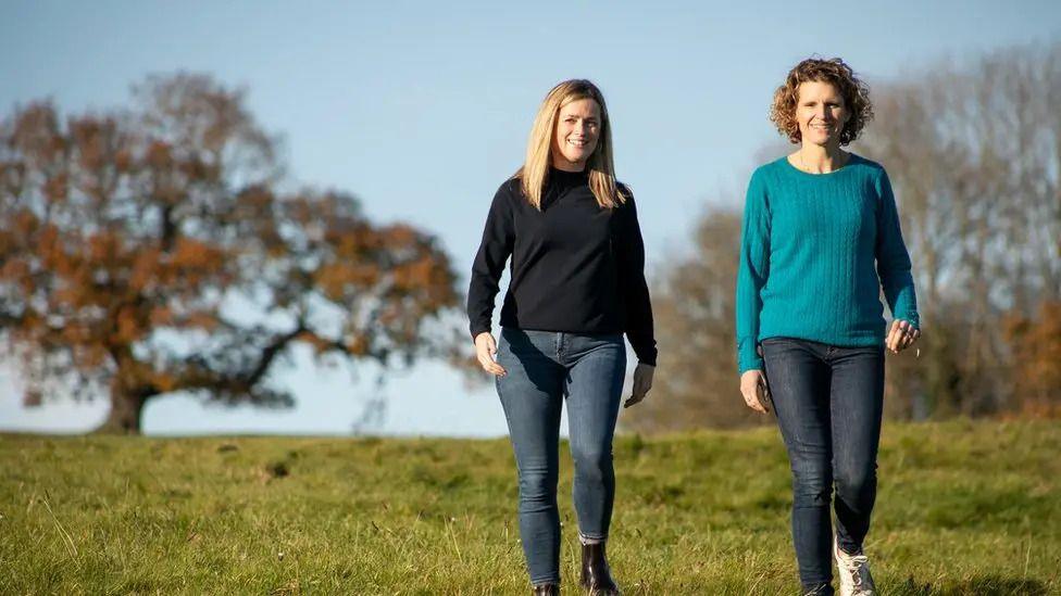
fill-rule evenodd
<path id="1" fill-rule="evenodd" d="M 893 316 L 915 327 L 918 302 L 891 183 L 884 168 L 851 154 L 829 174 L 786 157 L 748 185 L 737 271 L 737 365 L 762 370 L 766 338 L 831 345 L 884 341 L 881 288 Z"/>

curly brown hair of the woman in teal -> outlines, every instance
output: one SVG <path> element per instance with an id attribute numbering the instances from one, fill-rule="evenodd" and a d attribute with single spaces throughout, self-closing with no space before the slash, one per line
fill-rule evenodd
<path id="1" fill-rule="evenodd" d="M 873 119 L 870 88 L 839 58 L 809 58 L 788 72 L 785 84 L 774 91 L 774 103 L 770 106 L 770 121 L 777 126 L 777 131 L 792 143 L 798 144 L 802 140 L 796 122 L 797 93 L 800 83 L 811 80 L 836 87 L 844 98 L 844 106 L 851 114 L 840 131 L 840 144 L 846 145 L 857 139 L 865 124 Z"/>

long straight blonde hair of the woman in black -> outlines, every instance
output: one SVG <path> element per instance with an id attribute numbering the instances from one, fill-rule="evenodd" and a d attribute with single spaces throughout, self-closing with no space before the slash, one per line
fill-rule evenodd
<path id="1" fill-rule="evenodd" d="M 541 192 L 549 177 L 549 165 L 552 163 L 552 143 L 557 131 L 557 117 L 560 109 L 573 101 L 591 99 L 600 109 L 600 134 L 597 137 L 597 148 L 586 161 L 589 173 L 589 189 L 592 190 L 597 203 L 604 208 L 612 208 L 626 202 L 626 196 L 615 183 L 615 165 L 612 162 L 612 129 L 608 119 L 608 107 L 604 96 L 596 85 L 586 79 L 571 79 L 553 87 L 538 107 L 538 115 L 530 127 L 530 139 L 527 142 L 527 156 L 516 173 L 523 194 L 534 208 L 541 208 Z"/>

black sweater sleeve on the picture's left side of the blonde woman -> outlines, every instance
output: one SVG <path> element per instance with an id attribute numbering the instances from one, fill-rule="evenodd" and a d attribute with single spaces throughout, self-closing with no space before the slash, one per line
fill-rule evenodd
<path id="1" fill-rule="evenodd" d="M 494 195 L 483 229 L 483 240 L 472 264 L 472 279 L 467 288 L 467 318 L 473 339 L 484 331 L 490 331 L 494 299 L 500 288 L 504 263 L 512 254 L 515 227 L 512 223 L 509 187 L 510 181 L 505 181 Z"/>

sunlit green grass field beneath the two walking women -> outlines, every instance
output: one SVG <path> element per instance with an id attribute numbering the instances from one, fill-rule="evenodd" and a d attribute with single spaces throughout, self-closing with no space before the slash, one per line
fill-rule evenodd
<path id="1" fill-rule="evenodd" d="M 777 431 L 615 444 L 626 594 L 795 594 Z M 883 594 L 1061 594 L 1061 426 L 886 423 Z M 561 460 L 565 593 L 578 594 Z M 507 440 L 0 435 L 2 594 L 526 594 Z"/>

